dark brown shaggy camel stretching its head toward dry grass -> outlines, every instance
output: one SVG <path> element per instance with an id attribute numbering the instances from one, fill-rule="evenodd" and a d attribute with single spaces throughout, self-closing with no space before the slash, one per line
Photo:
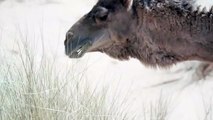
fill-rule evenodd
<path id="1" fill-rule="evenodd" d="M 192 0 L 99 0 L 64 44 L 70 58 L 98 51 L 152 67 L 213 62 L 213 7 L 194 8 Z"/>

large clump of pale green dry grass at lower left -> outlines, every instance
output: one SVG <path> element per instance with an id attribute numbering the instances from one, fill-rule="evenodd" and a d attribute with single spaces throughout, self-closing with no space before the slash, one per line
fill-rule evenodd
<path id="1" fill-rule="evenodd" d="M 54 59 L 18 46 L 19 54 L 0 56 L 0 119 L 130 120 L 116 104 L 108 107 L 107 89 L 91 90 L 72 65 L 60 70 Z"/>

